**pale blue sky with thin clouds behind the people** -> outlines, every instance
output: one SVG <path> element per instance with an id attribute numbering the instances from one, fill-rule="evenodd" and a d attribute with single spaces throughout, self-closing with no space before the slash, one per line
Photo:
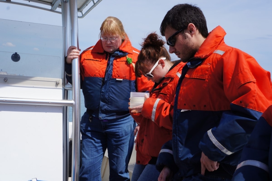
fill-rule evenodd
<path id="1" fill-rule="evenodd" d="M 28 3 L 22 0 L 14 1 Z M 102 0 L 84 18 L 78 19 L 79 48 L 84 50 L 95 45 L 99 39 L 102 22 L 106 17 L 114 16 L 122 21 L 132 45 L 140 49 L 142 39 L 149 33 L 160 34 L 159 28 L 164 15 L 179 3 L 197 5 L 206 17 L 208 31 L 220 25 L 227 32 L 225 42 L 228 45 L 252 55 L 264 69 L 272 72 L 270 62 L 272 2 L 270 0 Z M 37 5 L 31 2 L 30 4 Z M 44 7 L 50 8 L 46 5 Z M 61 9 L 58 8 L 58 11 Z M 0 19 L 62 25 L 61 14 L 3 2 L 0 2 Z M 0 39 L 0 49 L 8 46 L 7 43 L 11 42 Z M 166 47 L 168 48 L 167 45 Z M 38 53 L 39 50 L 35 51 Z M 173 54 L 171 57 L 173 60 L 178 59 Z"/>

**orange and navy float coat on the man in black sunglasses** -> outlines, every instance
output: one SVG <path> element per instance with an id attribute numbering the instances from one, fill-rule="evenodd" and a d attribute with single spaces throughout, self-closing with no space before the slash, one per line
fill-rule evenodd
<path id="1" fill-rule="evenodd" d="M 271 105 L 270 72 L 212 30 L 183 67 L 174 101 L 173 154 L 161 152 L 157 169 L 175 164 L 179 176 L 201 172 L 202 152 L 230 175 L 262 113 Z M 172 159 L 171 159 L 172 158 Z"/>

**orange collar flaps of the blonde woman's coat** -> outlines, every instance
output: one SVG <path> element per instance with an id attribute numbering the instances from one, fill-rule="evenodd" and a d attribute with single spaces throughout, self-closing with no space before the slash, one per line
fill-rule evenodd
<path id="1" fill-rule="evenodd" d="M 121 44 L 119 49 L 117 49 L 117 51 L 121 50 L 122 52 L 133 54 L 133 49 L 132 49 L 132 45 L 130 43 L 130 40 L 128 39 L 128 37 L 126 39 L 127 40 L 123 41 L 123 43 Z M 117 52 L 117 51 L 115 51 L 115 52 Z M 93 47 L 92 52 L 94 52 L 94 53 L 104 53 L 105 52 L 105 50 L 103 49 L 103 46 L 102 46 L 102 40 L 98 40 L 98 42 Z"/>

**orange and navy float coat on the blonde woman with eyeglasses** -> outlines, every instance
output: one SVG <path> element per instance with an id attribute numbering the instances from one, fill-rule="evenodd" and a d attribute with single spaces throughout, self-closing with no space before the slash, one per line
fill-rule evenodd
<path id="1" fill-rule="evenodd" d="M 112 54 L 105 52 L 102 40 L 80 54 L 81 88 L 85 107 L 99 119 L 115 119 L 130 115 L 130 92 L 149 91 L 154 83 L 146 78 L 136 78 L 135 65 L 139 50 L 130 40 L 124 40 Z M 132 63 L 128 63 L 132 59 Z M 72 73 L 71 64 L 65 64 L 67 75 Z M 71 83 L 71 77 L 66 76 Z"/>

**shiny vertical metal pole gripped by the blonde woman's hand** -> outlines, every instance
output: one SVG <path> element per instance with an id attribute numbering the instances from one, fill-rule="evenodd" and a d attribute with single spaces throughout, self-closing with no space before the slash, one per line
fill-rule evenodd
<path id="1" fill-rule="evenodd" d="M 71 44 L 78 45 L 77 0 L 70 0 Z M 73 144 L 72 144 L 72 181 L 79 181 L 80 167 L 80 71 L 79 60 L 72 61 L 73 100 Z"/>

